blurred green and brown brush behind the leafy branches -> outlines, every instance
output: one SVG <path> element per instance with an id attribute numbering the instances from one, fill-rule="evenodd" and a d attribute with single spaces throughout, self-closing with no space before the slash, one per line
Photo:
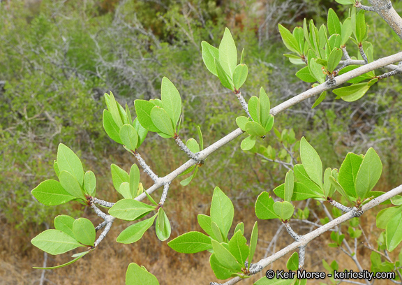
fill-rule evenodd
<path id="1" fill-rule="evenodd" d="M 397 11 L 402 10 L 402 3 L 393 3 Z M 218 46 L 224 28 L 229 27 L 237 46 L 245 49 L 249 75 L 242 94 L 248 100 L 262 86 L 271 105 L 277 105 L 309 88 L 295 77 L 297 66 L 283 57 L 286 50 L 277 24 L 292 29 L 306 17 L 319 26 L 329 8 L 341 19 L 348 13 L 329 0 L 0 1 L 0 284 L 39 282 L 42 272 L 31 270 L 31 266 L 42 265 L 44 256 L 30 240 L 52 228 L 57 214 L 100 222 L 80 204 L 46 207 L 31 196 L 37 184 L 56 178 L 52 163 L 59 142 L 77 152 L 84 166 L 96 173 L 99 198 L 112 202 L 120 198 L 112 186 L 110 164 L 128 170 L 135 161 L 103 130 L 105 92 L 111 90 L 120 103 L 127 102 L 134 110 L 137 98 L 159 98 L 161 79 L 166 76 L 184 101 L 181 137 L 197 138 L 196 127 L 200 125 L 204 145 L 211 145 L 236 129 L 235 118 L 244 113 L 236 96 L 204 67 L 200 42 Z M 398 52 L 399 43 L 385 22 L 373 13 L 366 13 L 366 18 L 374 57 Z M 357 49 L 348 50 L 357 56 Z M 347 152 L 365 153 L 374 147 L 385 166 L 377 190 L 387 191 L 402 182 L 402 84 L 394 77 L 375 86 L 354 103 L 335 100 L 334 94 L 329 94 L 311 109 L 315 98 L 306 100 L 278 115 L 275 127 L 279 131 L 292 128 L 297 140 L 306 136 L 325 167 L 338 168 Z M 279 159 L 290 159 L 274 132 L 259 143 L 274 147 Z M 234 224 L 243 220 L 250 234 L 257 219 L 253 203 L 258 193 L 274 189 L 286 170 L 241 151 L 239 146 L 240 140 L 235 140 L 214 153 L 188 187 L 181 187 L 179 181 L 172 183 L 165 207 L 172 238 L 199 230 L 196 214 L 208 214 L 215 186 L 232 198 Z M 187 160 L 173 140 L 154 133 L 149 133 L 140 153 L 159 176 Z M 151 180 L 143 174 L 145 188 L 150 187 Z M 309 207 L 314 210 L 316 206 Z M 368 214 L 363 220 L 373 224 L 374 217 L 375 213 Z M 260 230 L 260 258 L 275 250 L 267 249 L 267 244 L 278 223 L 261 221 L 261 225 L 265 229 Z M 70 268 L 47 272 L 44 284 L 124 284 L 130 262 L 145 265 L 161 284 L 215 280 L 207 254 L 177 254 L 159 242 L 153 231 L 138 244 L 117 244 L 114 239 L 126 226 L 115 223 L 100 250 Z M 371 231 L 371 226 L 367 229 Z M 326 247 L 325 238 L 316 244 Z M 290 237 L 281 242 L 277 249 L 291 242 Z M 320 258 L 337 254 L 331 249 L 326 256 L 310 256 L 306 267 L 322 269 Z M 66 259 L 48 256 L 47 265 Z M 110 266 L 101 270 L 106 261 Z M 370 263 L 363 265 L 368 268 Z M 353 267 L 345 263 L 345 268 L 348 266 Z"/>

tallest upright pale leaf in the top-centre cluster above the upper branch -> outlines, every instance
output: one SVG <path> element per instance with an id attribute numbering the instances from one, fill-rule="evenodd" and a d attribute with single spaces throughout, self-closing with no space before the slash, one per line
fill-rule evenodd
<path id="1" fill-rule="evenodd" d="M 221 64 L 225 73 L 230 75 L 230 78 L 233 76 L 234 68 L 237 66 L 237 49 L 234 44 L 232 34 L 228 28 L 225 28 L 225 32 L 223 33 L 223 38 L 221 44 L 219 45 L 218 50 L 219 63 Z M 219 71 L 218 71 L 219 75 Z"/>

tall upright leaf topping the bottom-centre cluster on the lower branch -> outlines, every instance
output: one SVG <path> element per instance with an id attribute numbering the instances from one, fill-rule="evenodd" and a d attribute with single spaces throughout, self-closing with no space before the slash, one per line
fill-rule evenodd
<path id="1" fill-rule="evenodd" d="M 214 221 L 224 238 L 228 237 L 232 226 L 234 207 L 232 201 L 219 187 L 215 187 L 211 202 L 211 221 Z"/>

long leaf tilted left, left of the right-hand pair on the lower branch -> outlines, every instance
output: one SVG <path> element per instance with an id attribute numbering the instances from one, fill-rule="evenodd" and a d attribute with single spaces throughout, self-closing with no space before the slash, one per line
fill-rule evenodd
<path id="1" fill-rule="evenodd" d="M 300 140 L 300 159 L 308 177 L 322 189 L 322 162 L 320 156 L 304 137 Z"/>

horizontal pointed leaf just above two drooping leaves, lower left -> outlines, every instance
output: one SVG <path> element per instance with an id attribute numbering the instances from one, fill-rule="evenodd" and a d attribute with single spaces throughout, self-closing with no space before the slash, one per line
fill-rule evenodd
<path id="1" fill-rule="evenodd" d="M 115 203 L 113 207 L 109 209 L 109 214 L 117 219 L 134 221 L 135 219 L 138 219 L 144 214 L 147 214 L 155 209 L 156 207 L 147 205 L 137 200 L 122 199 L 117 201 L 117 203 Z"/>

